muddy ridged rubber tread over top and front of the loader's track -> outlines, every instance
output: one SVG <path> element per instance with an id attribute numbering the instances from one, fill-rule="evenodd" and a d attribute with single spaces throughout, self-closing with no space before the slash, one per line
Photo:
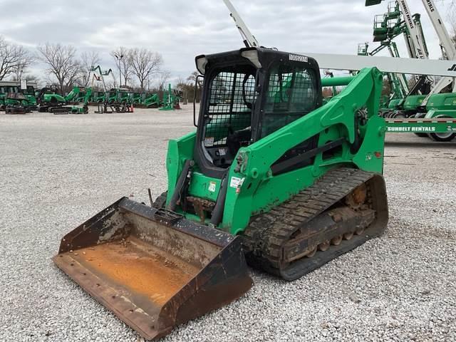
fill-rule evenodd
<path id="1" fill-rule="evenodd" d="M 346 197 L 353 189 L 367 182 L 374 175 L 372 172 L 348 167 L 331 170 L 314 185 L 299 192 L 298 195 L 279 204 L 270 212 L 254 217 L 244 231 L 244 251 L 249 263 L 286 278 L 280 270 L 281 246 L 288 242 L 303 224 Z M 333 247 L 331 246 L 331 248 Z M 347 249 L 345 252 L 353 248 L 345 248 Z M 316 260 L 312 261 L 313 258 L 307 258 L 309 263 L 313 264 L 308 271 L 318 268 L 333 258 L 323 258 L 320 264 L 316 263 Z"/>

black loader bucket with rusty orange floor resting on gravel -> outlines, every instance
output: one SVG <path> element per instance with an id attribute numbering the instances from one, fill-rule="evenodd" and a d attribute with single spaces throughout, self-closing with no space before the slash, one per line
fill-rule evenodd
<path id="1" fill-rule="evenodd" d="M 53 261 L 147 339 L 252 286 L 237 237 L 126 197 L 63 237 Z"/>

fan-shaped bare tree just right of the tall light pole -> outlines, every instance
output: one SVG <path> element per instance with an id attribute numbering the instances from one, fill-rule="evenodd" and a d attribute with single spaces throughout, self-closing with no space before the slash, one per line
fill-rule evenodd
<path id="1" fill-rule="evenodd" d="M 133 74 L 138 78 L 141 90 L 144 90 L 144 86 L 151 76 L 160 72 L 160 67 L 163 63 L 162 55 L 146 48 L 133 48 L 129 51 L 128 56 Z M 167 73 L 167 78 L 169 76 L 169 73 Z"/>

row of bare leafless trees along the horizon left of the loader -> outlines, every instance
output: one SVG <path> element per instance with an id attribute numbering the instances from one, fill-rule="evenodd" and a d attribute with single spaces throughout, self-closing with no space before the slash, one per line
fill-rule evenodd
<path id="1" fill-rule="evenodd" d="M 113 78 L 106 78 L 111 88 L 125 87 L 139 91 L 163 90 L 170 78 L 170 72 L 162 68 L 160 53 L 147 48 L 119 47 L 110 52 L 113 58 Z M 89 86 L 92 83 L 92 69 L 100 65 L 101 58 L 96 51 L 78 53 L 71 45 L 45 43 L 30 51 L 24 46 L 6 41 L 0 36 L 0 81 L 38 81 L 29 73 L 38 63 L 46 66 L 43 83 L 56 84 L 62 94 L 73 86 Z"/>

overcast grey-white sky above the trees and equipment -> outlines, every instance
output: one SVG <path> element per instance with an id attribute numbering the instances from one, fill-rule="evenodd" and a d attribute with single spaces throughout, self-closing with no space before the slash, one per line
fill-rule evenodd
<path id="1" fill-rule="evenodd" d="M 372 40 L 373 16 L 384 13 L 388 1 L 371 7 L 364 0 L 232 2 L 263 46 L 356 54 L 358 43 Z M 449 2 L 437 2 L 444 20 Z M 410 8 L 423 14 L 431 58 L 439 58 L 437 36 L 422 2 L 410 0 Z M 0 0 L 0 13 L 0 34 L 15 43 L 33 49 L 49 41 L 81 52 L 95 50 L 103 68 L 114 68 L 109 51 L 117 46 L 150 48 L 162 54 L 174 79 L 192 73 L 199 54 L 242 47 L 222 0 Z M 397 40 L 405 57 L 403 38 Z"/>

